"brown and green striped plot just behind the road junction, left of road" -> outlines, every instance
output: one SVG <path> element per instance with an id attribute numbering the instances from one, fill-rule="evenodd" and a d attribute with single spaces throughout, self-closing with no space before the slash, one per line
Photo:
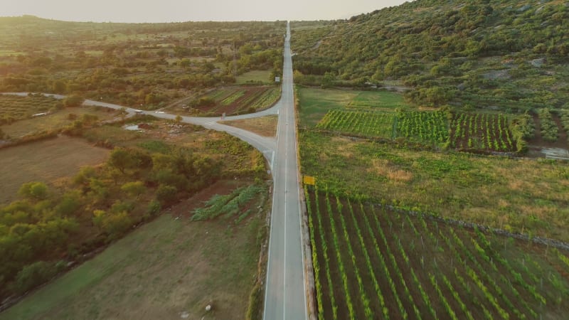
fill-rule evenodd
<path id="1" fill-rule="evenodd" d="M 280 97 L 280 87 L 232 87 L 218 89 L 205 96 L 215 101 L 211 105 L 198 106 L 198 110 L 208 115 L 225 113 L 243 114 L 271 107 Z M 203 98 L 203 97 L 202 97 Z"/>

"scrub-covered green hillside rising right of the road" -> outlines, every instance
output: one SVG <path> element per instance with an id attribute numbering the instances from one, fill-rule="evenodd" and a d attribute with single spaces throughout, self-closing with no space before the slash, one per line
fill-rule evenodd
<path id="1" fill-rule="evenodd" d="M 566 1 L 418 0 L 292 26 L 300 82 L 401 84 L 420 105 L 569 108 Z"/>

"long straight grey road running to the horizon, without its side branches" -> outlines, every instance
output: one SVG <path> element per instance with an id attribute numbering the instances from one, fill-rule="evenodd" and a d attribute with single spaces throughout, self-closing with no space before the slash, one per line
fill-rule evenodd
<path id="1" fill-rule="evenodd" d="M 304 254 L 294 119 L 290 26 L 285 38 L 282 97 L 277 127 L 274 192 L 265 289 L 265 320 L 307 319 Z"/>

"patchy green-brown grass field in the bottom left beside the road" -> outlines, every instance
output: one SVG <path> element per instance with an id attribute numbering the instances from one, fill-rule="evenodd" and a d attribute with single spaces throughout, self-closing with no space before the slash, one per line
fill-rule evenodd
<path id="1" fill-rule="evenodd" d="M 242 181 L 216 183 L 0 314 L 0 319 L 243 319 L 257 278 L 264 212 L 238 225 L 191 210 Z M 266 196 L 265 196 L 266 198 Z M 180 218 L 176 218 L 180 217 Z"/>

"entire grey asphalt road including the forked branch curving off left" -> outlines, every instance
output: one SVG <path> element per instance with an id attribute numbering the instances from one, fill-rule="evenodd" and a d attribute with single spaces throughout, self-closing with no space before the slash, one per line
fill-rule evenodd
<path id="1" fill-rule="evenodd" d="M 292 86 L 292 58 L 290 52 L 290 28 L 287 25 L 282 76 L 282 97 L 270 109 L 254 114 L 225 117 L 225 120 L 250 119 L 278 114 L 277 137 L 261 137 L 236 127 L 219 124 L 220 117 L 182 117 L 183 122 L 201 125 L 208 129 L 228 132 L 248 142 L 262 152 L 270 164 L 273 177 L 272 215 L 265 288 L 265 320 L 308 318 L 304 281 L 304 252 L 302 246 L 299 167 L 297 161 L 297 132 L 294 118 L 294 93 Z M 28 95 L 28 92 L 6 92 L 7 95 Z M 58 99 L 63 95 L 44 94 Z M 85 100 L 83 105 L 96 105 L 119 110 L 114 105 L 95 100 Z M 140 111 L 124 107 L 129 116 L 136 113 L 151 114 L 162 119 L 175 119 L 176 114 Z"/>

